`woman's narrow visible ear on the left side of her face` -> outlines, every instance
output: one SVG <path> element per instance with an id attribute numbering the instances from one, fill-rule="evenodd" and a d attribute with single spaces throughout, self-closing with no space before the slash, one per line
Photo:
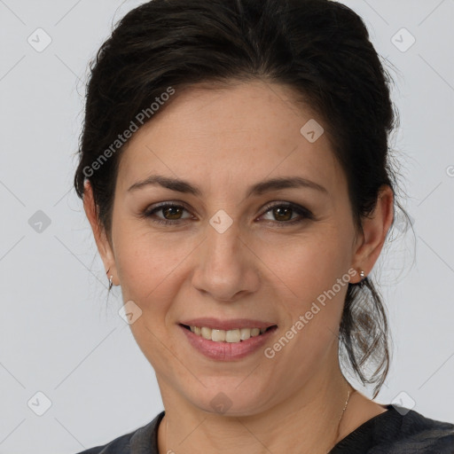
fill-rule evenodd
<path id="1" fill-rule="evenodd" d="M 106 231 L 98 223 L 98 211 L 95 205 L 90 181 L 87 181 L 84 184 L 83 209 L 85 210 L 85 215 L 87 215 L 90 222 L 91 230 L 93 231 L 93 236 L 95 237 L 99 255 L 104 262 L 106 273 L 108 271 L 108 278 L 110 278 L 110 276 L 114 276 L 113 282 L 115 282 L 116 270 L 114 252 L 107 239 Z"/>

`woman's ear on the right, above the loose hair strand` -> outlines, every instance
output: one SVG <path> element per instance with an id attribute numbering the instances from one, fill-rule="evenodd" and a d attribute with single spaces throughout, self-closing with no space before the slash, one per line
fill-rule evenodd
<path id="1" fill-rule="evenodd" d="M 384 184 L 380 188 L 377 205 L 370 216 L 363 219 L 363 232 L 356 240 L 356 251 L 353 257 L 353 266 L 357 271 L 352 284 L 359 282 L 359 270 L 364 270 L 368 276 L 373 265 L 377 262 L 381 249 L 385 244 L 387 231 L 394 219 L 394 193 L 390 186 Z"/>

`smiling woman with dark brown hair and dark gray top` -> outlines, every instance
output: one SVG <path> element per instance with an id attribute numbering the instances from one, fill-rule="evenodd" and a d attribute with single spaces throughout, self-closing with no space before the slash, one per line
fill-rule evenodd
<path id="1" fill-rule="evenodd" d="M 154 0 L 121 20 L 74 184 L 165 411 L 84 453 L 454 452 L 453 425 L 340 371 L 375 397 L 389 366 L 369 277 L 398 205 L 388 82 L 328 0 Z"/>

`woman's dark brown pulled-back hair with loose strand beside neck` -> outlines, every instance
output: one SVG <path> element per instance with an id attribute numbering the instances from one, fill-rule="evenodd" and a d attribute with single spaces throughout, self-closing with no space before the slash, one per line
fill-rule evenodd
<path id="1" fill-rule="evenodd" d="M 291 87 L 323 120 L 361 231 L 382 185 L 395 193 L 388 139 L 397 122 L 391 78 L 364 21 L 329 0 L 153 0 L 126 14 L 90 62 L 74 187 L 82 198 L 90 180 L 108 236 L 122 150 L 116 141 L 131 121 L 162 114 L 169 88 L 177 95 L 199 82 L 254 79 Z M 160 105 L 156 112 L 152 103 Z M 375 384 L 374 397 L 387 376 L 388 341 L 372 279 L 348 284 L 340 357 L 363 384 Z M 367 364 L 374 364 L 371 373 Z"/>

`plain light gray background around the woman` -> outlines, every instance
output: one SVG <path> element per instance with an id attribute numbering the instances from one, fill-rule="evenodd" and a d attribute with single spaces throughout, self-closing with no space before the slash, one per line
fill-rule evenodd
<path id="1" fill-rule="evenodd" d="M 0 453 L 74 453 L 163 409 L 153 369 L 117 314 L 120 289 L 106 301 L 105 270 L 72 189 L 88 61 L 112 22 L 142 3 L 0 0 Z M 373 270 L 395 345 L 376 401 L 405 392 L 413 410 L 454 422 L 454 2 L 345 4 L 398 71 L 392 145 L 415 229 L 396 229 Z M 27 42 L 37 42 L 38 27 L 52 40 L 42 52 Z M 395 35 L 402 27 L 416 39 L 407 51 L 392 42 L 410 43 Z M 51 220 L 41 232 L 29 223 L 38 210 Z M 51 401 L 43 416 L 38 392 Z"/>

